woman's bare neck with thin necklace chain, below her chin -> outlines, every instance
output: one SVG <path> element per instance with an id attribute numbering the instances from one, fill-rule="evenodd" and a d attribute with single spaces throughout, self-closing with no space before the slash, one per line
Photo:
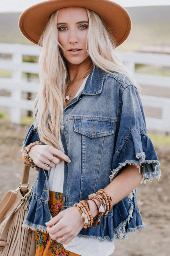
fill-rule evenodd
<path id="1" fill-rule="evenodd" d="M 85 72 L 88 69 L 90 69 L 90 67 L 92 66 L 92 61 L 89 60 L 85 63 L 80 63 L 78 65 L 73 65 L 69 63 L 67 66 L 69 71 L 69 80 L 71 83 L 73 83 L 74 81 L 80 79 L 85 74 Z M 87 77 L 90 72 L 91 72 L 91 69 L 87 74 L 85 74 L 84 78 Z"/>

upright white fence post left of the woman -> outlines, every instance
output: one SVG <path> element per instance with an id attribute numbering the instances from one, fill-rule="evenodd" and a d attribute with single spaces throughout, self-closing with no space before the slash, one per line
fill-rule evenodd
<path id="1" fill-rule="evenodd" d="M 14 67 L 12 79 L 15 80 L 15 83 L 18 84 L 18 87 L 13 87 L 11 91 L 11 101 L 15 104 L 13 104 L 14 107 L 10 109 L 10 116 L 12 123 L 19 124 L 21 119 L 20 101 L 22 98 L 22 91 L 19 86 L 22 80 L 22 54 L 19 51 L 13 52 L 12 62 Z"/>

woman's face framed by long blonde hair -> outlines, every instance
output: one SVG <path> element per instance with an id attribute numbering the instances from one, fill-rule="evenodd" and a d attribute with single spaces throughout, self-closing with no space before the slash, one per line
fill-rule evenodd
<path id="1" fill-rule="evenodd" d="M 58 41 L 63 47 L 63 56 L 71 64 L 78 65 L 89 59 L 86 50 L 88 25 L 85 8 L 68 7 L 59 11 Z"/>

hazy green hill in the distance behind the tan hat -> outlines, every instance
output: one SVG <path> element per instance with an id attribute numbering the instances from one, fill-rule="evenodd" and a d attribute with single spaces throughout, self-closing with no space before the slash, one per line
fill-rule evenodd
<path id="1" fill-rule="evenodd" d="M 143 45 L 170 46 L 170 6 L 127 8 L 132 31 L 120 50 L 138 50 Z M 0 42 L 29 44 L 18 29 L 20 13 L 0 13 Z"/>

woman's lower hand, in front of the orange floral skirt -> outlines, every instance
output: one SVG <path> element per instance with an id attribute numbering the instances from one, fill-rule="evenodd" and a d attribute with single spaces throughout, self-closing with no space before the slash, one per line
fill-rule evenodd
<path id="1" fill-rule="evenodd" d="M 47 232 L 57 243 L 68 244 L 84 226 L 84 219 L 76 206 L 61 211 L 46 223 Z M 63 238 L 60 238 L 63 237 Z M 62 240 L 61 240 L 62 239 Z"/>

